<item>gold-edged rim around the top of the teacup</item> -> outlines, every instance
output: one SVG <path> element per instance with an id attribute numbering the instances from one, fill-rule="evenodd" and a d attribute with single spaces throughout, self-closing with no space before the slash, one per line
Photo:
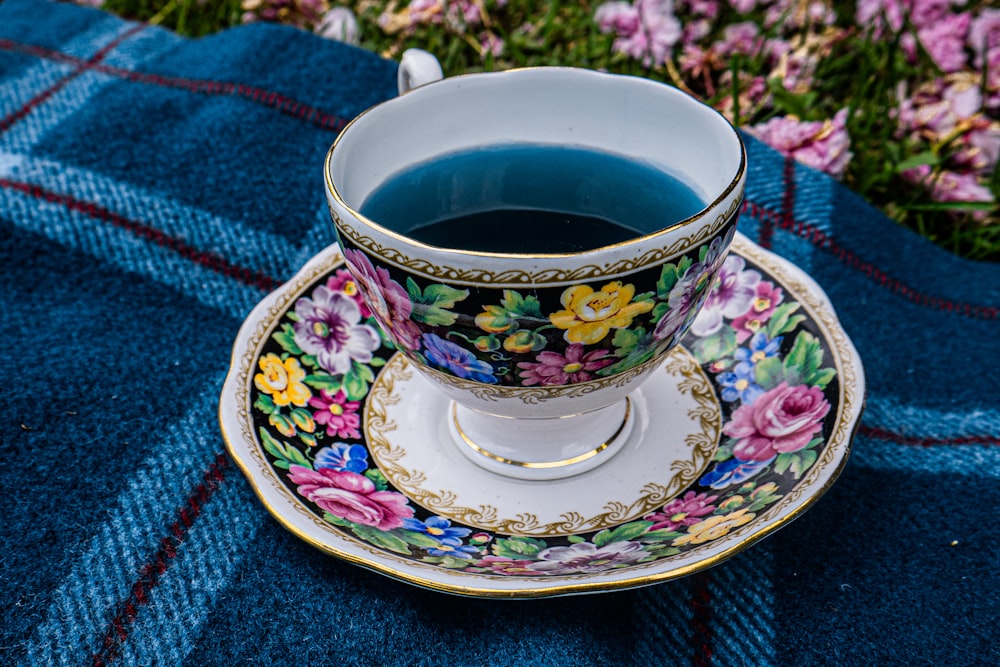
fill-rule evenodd
<path id="1" fill-rule="evenodd" d="M 425 243 L 423 241 L 419 241 L 417 239 L 409 237 L 406 234 L 401 234 L 399 232 L 393 231 L 392 229 L 389 229 L 389 228 L 387 228 L 387 227 L 379 224 L 378 222 L 372 220 L 371 218 L 363 215 L 355 207 L 353 207 L 350 204 L 348 204 L 344 200 L 344 198 L 340 195 L 340 192 L 337 190 L 337 187 L 334 184 L 333 177 L 331 175 L 333 153 L 336 150 L 337 145 L 341 142 L 342 138 L 347 134 L 347 131 L 351 128 L 351 126 L 354 125 L 354 124 L 356 124 L 356 123 L 358 123 L 358 122 L 360 122 L 361 119 L 364 116 L 366 116 L 369 113 L 373 112 L 375 109 L 378 109 L 378 108 L 380 108 L 380 107 L 382 107 L 382 106 L 384 106 L 386 104 L 389 104 L 389 103 L 393 102 L 394 100 L 398 100 L 403 95 L 411 95 L 411 94 L 414 94 L 414 93 L 419 94 L 419 91 L 421 91 L 423 89 L 426 89 L 426 88 L 430 88 L 432 86 L 439 85 L 439 84 L 445 84 L 445 83 L 456 81 L 456 80 L 460 80 L 460 79 L 480 78 L 480 77 L 483 77 L 483 76 L 498 76 L 498 75 L 505 75 L 505 74 L 517 74 L 517 73 L 529 72 L 529 71 L 567 71 L 567 72 L 574 72 L 574 73 L 586 73 L 587 76 L 593 75 L 593 76 L 596 76 L 596 77 L 624 78 L 624 79 L 630 79 L 630 80 L 634 80 L 634 81 L 643 82 L 643 85 L 649 84 L 649 85 L 665 86 L 665 87 L 673 90 L 675 93 L 677 93 L 679 95 L 682 95 L 682 96 L 685 96 L 685 97 L 689 98 L 690 100 L 694 101 L 695 103 L 697 103 L 698 105 L 704 107 L 705 110 L 707 110 L 707 111 L 715 114 L 719 119 L 721 119 L 725 123 L 725 125 L 732 132 L 733 137 L 735 137 L 736 144 L 737 144 L 737 146 L 739 148 L 739 151 L 740 151 L 739 164 L 737 165 L 736 172 L 733 175 L 733 177 L 729 180 L 729 183 L 726 185 L 726 187 L 722 191 L 722 193 L 720 193 L 715 199 L 713 199 L 709 203 L 706 203 L 701 208 L 701 210 L 699 210 L 694 215 L 691 215 L 691 216 L 688 216 L 687 218 L 679 220 L 676 223 L 670 225 L 669 227 L 664 227 L 663 229 L 659 229 L 659 230 L 657 230 L 655 232 L 651 232 L 649 234 L 643 234 L 642 236 L 635 236 L 635 237 L 627 239 L 625 241 L 619 241 L 617 243 L 612 243 L 612 244 L 609 244 L 609 245 L 599 246 L 597 248 L 590 248 L 590 249 L 587 249 L 587 250 L 582 250 L 582 251 L 577 251 L 577 252 L 564 252 L 564 253 L 509 253 L 509 252 L 491 252 L 491 251 L 487 251 L 487 250 L 469 250 L 469 249 L 465 249 L 465 248 L 452 248 L 452 247 L 447 247 L 447 246 L 438 246 L 438 245 L 433 245 L 433 244 L 430 244 L 430 243 Z M 408 246 L 408 247 L 411 247 L 411 248 L 414 248 L 414 249 L 417 249 L 417 250 L 420 250 L 420 251 L 424 251 L 424 252 L 434 252 L 434 253 L 447 252 L 449 254 L 454 254 L 454 255 L 457 255 L 457 256 L 460 256 L 460 257 L 467 257 L 467 258 L 481 257 L 481 258 L 484 258 L 484 259 L 505 259 L 505 260 L 510 260 L 510 261 L 528 261 L 528 260 L 539 260 L 539 259 L 566 260 L 566 259 L 569 259 L 569 258 L 586 257 L 586 256 L 589 256 L 589 255 L 597 255 L 597 254 L 602 254 L 602 253 L 607 253 L 607 252 L 615 252 L 615 251 L 618 251 L 618 250 L 621 250 L 621 249 L 624 249 L 624 248 L 630 248 L 630 247 L 634 247 L 634 246 L 639 246 L 641 244 L 655 242 L 655 239 L 657 237 L 672 235 L 675 232 L 677 232 L 677 230 L 679 230 L 679 229 L 691 226 L 691 225 L 693 225 L 693 224 L 695 224 L 697 222 L 700 222 L 700 221 L 704 220 L 705 218 L 707 218 L 711 214 L 711 212 L 720 209 L 721 206 L 722 206 L 722 204 L 727 199 L 730 199 L 730 197 L 733 194 L 733 191 L 736 190 L 737 188 L 739 188 L 741 186 L 741 183 L 745 182 L 746 170 L 747 170 L 747 150 L 746 150 L 746 143 L 743 141 L 743 138 L 740 136 L 739 130 L 722 113 L 720 113 L 718 110 L 712 108 L 711 106 L 705 104 L 704 102 L 702 102 L 701 100 L 697 99 L 696 97 L 694 97 L 690 93 L 688 93 L 688 92 L 686 92 L 686 91 L 684 91 L 684 90 L 682 90 L 682 89 L 680 89 L 680 88 L 678 88 L 676 86 L 671 86 L 668 83 L 665 83 L 665 82 L 662 82 L 662 81 L 655 81 L 653 79 L 649 79 L 649 78 L 641 77 L 641 76 L 636 76 L 636 75 L 633 75 L 633 74 L 616 74 L 616 73 L 613 73 L 613 72 L 601 72 L 601 71 L 589 69 L 589 68 L 586 68 L 586 67 L 569 67 L 569 66 L 564 66 L 564 65 L 538 65 L 538 66 L 530 66 L 530 67 L 514 67 L 514 68 L 511 68 L 511 69 L 494 71 L 494 72 L 467 72 L 467 73 L 463 73 L 463 74 L 455 74 L 455 75 L 452 75 L 452 76 L 445 77 L 443 79 L 439 79 L 437 81 L 431 81 L 429 83 L 425 83 L 425 84 L 422 84 L 420 86 L 416 86 L 413 89 L 411 89 L 411 90 L 409 90 L 409 91 L 407 91 L 405 93 L 402 93 L 402 94 L 397 95 L 395 97 L 391 97 L 389 99 L 386 99 L 386 100 L 383 100 L 383 101 L 378 102 L 376 104 L 373 104 L 370 107 L 366 108 L 361 113 L 359 113 L 358 115 L 356 115 L 354 118 L 352 118 L 340 130 L 340 132 L 337 134 L 337 137 L 334 139 L 333 143 L 330 145 L 330 148 L 327 150 L 326 157 L 324 158 L 324 161 L 323 161 L 323 179 L 324 179 L 324 182 L 325 182 L 325 185 L 326 185 L 326 191 L 327 191 L 327 193 L 330 196 L 332 196 L 334 198 L 334 200 L 336 200 L 336 202 L 340 206 L 342 206 L 345 210 L 349 211 L 358 222 L 363 223 L 365 226 L 367 226 L 367 227 L 369 227 L 369 228 L 377 231 L 378 233 L 383 234 L 383 235 L 385 235 L 385 236 L 393 239 L 397 243 L 402 243 L 404 246 Z M 742 195 L 738 195 L 737 196 L 737 199 L 741 199 L 741 198 L 742 198 Z M 723 210 L 721 213 L 719 213 L 719 215 L 726 215 L 729 212 L 730 212 L 729 210 Z M 334 223 L 335 223 L 336 226 L 340 226 L 340 221 L 339 220 L 335 219 Z"/>

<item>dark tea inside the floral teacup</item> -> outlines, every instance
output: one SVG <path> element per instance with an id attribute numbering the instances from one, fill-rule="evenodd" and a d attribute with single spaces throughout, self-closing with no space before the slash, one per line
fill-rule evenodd
<path id="1" fill-rule="evenodd" d="M 394 174 L 360 212 L 430 245 L 543 254 L 651 234 L 704 205 L 690 186 L 643 162 L 515 144 L 453 153 Z"/>

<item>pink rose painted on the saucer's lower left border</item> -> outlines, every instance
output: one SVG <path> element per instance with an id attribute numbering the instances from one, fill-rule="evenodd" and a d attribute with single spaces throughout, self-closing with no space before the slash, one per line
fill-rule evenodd
<path id="1" fill-rule="evenodd" d="M 395 491 L 376 491 L 375 484 L 364 475 L 330 468 L 310 470 L 296 465 L 288 471 L 289 479 L 298 484 L 301 496 L 341 519 L 379 530 L 392 530 L 401 527 L 403 519 L 413 517 L 413 508 L 406 496 Z"/>

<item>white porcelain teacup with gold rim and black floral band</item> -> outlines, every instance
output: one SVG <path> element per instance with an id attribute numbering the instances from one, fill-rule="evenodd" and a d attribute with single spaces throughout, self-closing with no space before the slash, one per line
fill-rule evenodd
<path id="1" fill-rule="evenodd" d="M 404 68 L 401 92 L 419 78 Z M 432 245 L 361 212 L 395 175 L 504 146 L 624 157 L 679 179 L 703 204 L 624 240 L 556 253 Z M 456 445 L 486 469 L 544 480 L 590 470 L 628 441 L 640 418 L 629 394 L 687 331 L 726 257 L 745 167 L 732 125 L 673 87 L 542 67 L 441 79 L 376 105 L 337 138 L 325 182 L 364 301 L 451 399 L 440 419 Z M 394 215 L 405 220 L 402 208 Z"/>

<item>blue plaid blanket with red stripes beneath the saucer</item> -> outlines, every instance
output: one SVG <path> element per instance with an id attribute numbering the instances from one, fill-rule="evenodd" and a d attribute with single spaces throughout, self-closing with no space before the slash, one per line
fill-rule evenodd
<path id="1" fill-rule="evenodd" d="M 219 389 L 250 309 L 332 242 L 324 153 L 395 70 L 289 28 L 0 4 L 0 662 L 1000 663 L 1000 266 L 753 140 L 740 229 L 822 285 L 867 369 L 801 519 L 688 578 L 521 602 L 281 528 Z"/>

